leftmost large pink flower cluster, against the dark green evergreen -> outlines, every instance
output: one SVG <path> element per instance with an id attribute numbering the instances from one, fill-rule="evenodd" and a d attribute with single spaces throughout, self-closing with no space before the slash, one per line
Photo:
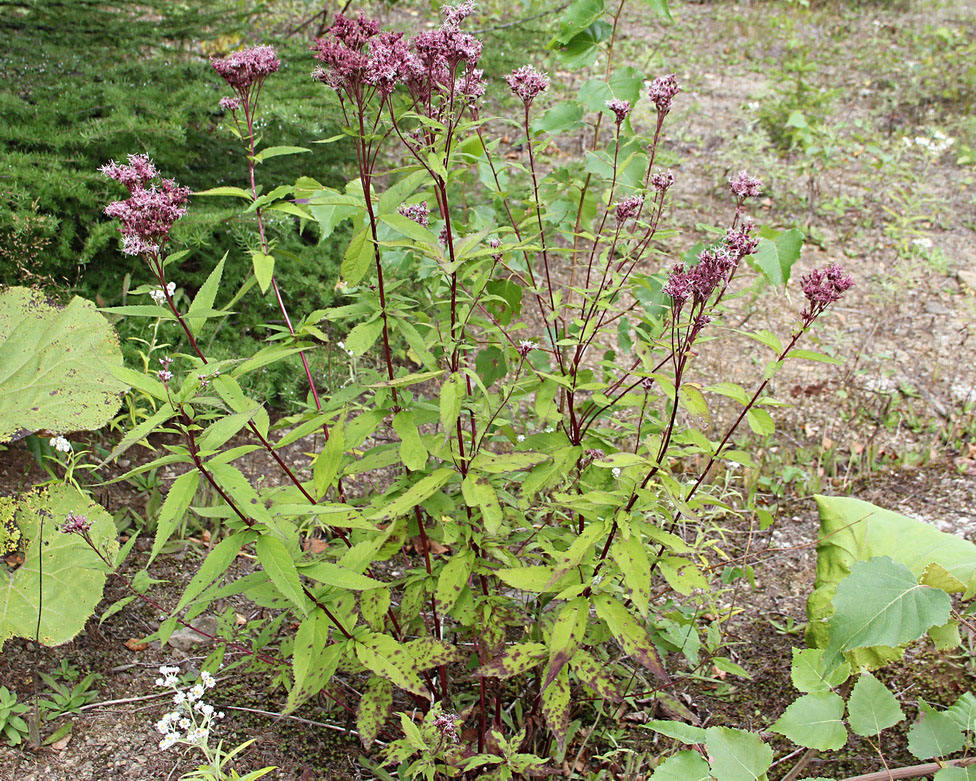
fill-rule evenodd
<path id="1" fill-rule="evenodd" d="M 122 224 L 122 251 L 127 255 L 157 255 L 169 237 L 173 224 L 186 214 L 188 187 L 162 179 L 146 155 L 130 155 L 129 164 L 114 160 L 99 171 L 125 185 L 129 197 L 113 201 L 105 214 Z"/>

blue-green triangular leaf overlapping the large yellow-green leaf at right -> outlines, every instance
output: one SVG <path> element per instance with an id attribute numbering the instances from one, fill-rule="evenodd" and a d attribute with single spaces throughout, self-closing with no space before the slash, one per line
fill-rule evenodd
<path id="1" fill-rule="evenodd" d="M 824 665 L 855 648 L 917 640 L 929 627 L 945 624 L 951 607 L 948 594 L 919 585 L 904 564 L 887 556 L 858 562 L 834 595 Z"/>

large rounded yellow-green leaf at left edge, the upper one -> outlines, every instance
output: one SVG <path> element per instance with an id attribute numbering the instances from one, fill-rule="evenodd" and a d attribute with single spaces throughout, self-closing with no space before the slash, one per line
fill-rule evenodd
<path id="1" fill-rule="evenodd" d="M 25 287 L 0 292 L 0 442 L 41 429 L 101 428 L 122 402 L 119 340 L 83 298 L 64 308 Z"/>

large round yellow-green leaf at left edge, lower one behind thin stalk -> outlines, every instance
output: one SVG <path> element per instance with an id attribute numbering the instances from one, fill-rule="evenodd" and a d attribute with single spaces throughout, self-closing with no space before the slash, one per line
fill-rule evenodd
<path id="1" fill-rule="evenodd" d="M 9 637 L 33 638 L 35 633 L 47 646 L 66 643 L 101 600 L 105 565 L 81 537 L 60 530 L 69 513 L 88 518 L 92 542 L 115 560 L 119 546 L 111 516 L 78 489 L 60 485 L 20 496 L 13 523 L 27 547 L 24 563 L 0 576 L 0 648 Z"/>

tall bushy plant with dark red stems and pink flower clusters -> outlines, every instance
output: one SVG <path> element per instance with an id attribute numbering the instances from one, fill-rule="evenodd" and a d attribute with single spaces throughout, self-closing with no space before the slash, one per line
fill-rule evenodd
<path id="1" fill-rule="evenodd" d="M 384 760 L 403 777 L 529 772 L 561 759 L 594 697 L 667 690 L 721 658 L 731 613 L 704 521 L 725 506 L 725 483 L 706 478 L 752 465 L 740 424 L 772 431 L 770 379 L 788 360 L 818 357 L 797 345 L 851 285 L 836 266 L 804 278 L 808 305 L 789 338 L 750 334 L 773 352 L 755 386 L 717 382 L 698 368 L 699 347 L 724 335 L 738 281 L 764 268 L 775 240 L 748 217 L 761 181 L 732 176 L 722 238 L 676 253 L 663 227 L 675 174 L 658 162 L 675 76 L 642 86 L 608 64 L 611 78 L 588 83 L 569 110 L 543 111 L 551 82 L 535 67 L 486 80 L 482 44 L 462 29 L 472 13 L 445 8 L 439 27 L 413 37 L 340 15 L 315 42 L 314 78 L 356 149 L 341 191 L 303 178 L 262 192 L 256 164 L 296 151 L 257 149 L 257 99 L 277 59 L 259 47 L 215 61 L 235 91 L 224 108 L 243 117 L 250 187 L 209 194 L 247 199 L 262 240 L 255 274 L 286 324 L 256 356 L 217 364 L 199 348 L 198 328 L 224 314 L 213 309 L 219 266 L 187 312 L 167 293 L 162 226 L 186 194 L 153 190 L 148 160 L 106 170 L 160 193 L 145 215 L 136 202 L 110 213 L 127 251 L 158 269 L 189 346 L 157 376 L 132 378 L 160 411 L 117 448 L 153 428 L 183 443 L 165 457 L 189 469 L 170 489 L 151 558 L 201 483 L 222 502 L 222 538 L 159 634 L 222 593 L 286 611 L 297 629 L 260 655 L 289 666 L 288 706 L 325 694 L 355 715 L 366 745 L 399 727 Z M 484 116 L 492 89 L 510 93 L 511 117 Z M 543 150 L 587 111 L 585 171 L 552 167 Z M 645 122 L 649 134 L 635 129 Z M 506 124 L 520 154 L 500 154 L 491 130 Z M 152 216 L 158 199 L 168 222 Z M 349 303 L 290 315 L 263 238 L 269 209 L 326 232 L 351 221 Z M 133 227 L 144 223 L 155 227 Z M 778 249 L 788 277 L 798 252 Z M 327 341 L 323 323 L 348 329 L 345 353 L 376 359 L 354 362 L 331 396 L 306 363 L 308 409 L 272 428 L 240 380 Z M 728 403 L 726 425 L 705 422 Z M 281 449 L 317 431 L 324 444 L 305 477 Z M 255 484 L 235 466 L 262 449 L 277 482 Z M 222 585 L 245 548 L 259 567 Z M 724 618 L 706 625 L 705 613 Z M 422 726 L 406 715 L 418 710 Z"/>

